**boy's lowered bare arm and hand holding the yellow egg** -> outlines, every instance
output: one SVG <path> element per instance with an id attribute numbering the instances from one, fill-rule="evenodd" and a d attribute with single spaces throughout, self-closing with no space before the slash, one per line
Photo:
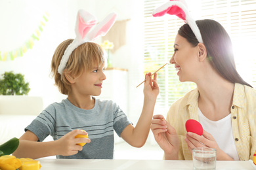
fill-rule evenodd
<path id="1" fill-rule="evenodd" d="M 17 158 L 32 159 L 55 155 L 74 155 L 77 154 L 79 150 L 83 149 L 78 143 L 91 142 L 91 140 L 87 138 L 75 138 L 78 134 L 86 135 L 87 132 L 77 129 L 67 133 L 56 141 L 37 142 L 38 137 L 32 131 L 26 131 L 26 133 L 20 137 L 20 144 L 12 155 Z"/>

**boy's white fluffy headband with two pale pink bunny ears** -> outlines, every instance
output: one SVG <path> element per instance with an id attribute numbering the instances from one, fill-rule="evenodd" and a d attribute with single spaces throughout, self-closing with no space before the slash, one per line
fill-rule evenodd
<path id="1" fill-rule="evenodd" d="M 78 10 L 77 12 L 77 20 L 75 24 L 75 39 L 72 43 L 68 45 L 66 48 L 62 59 L 60 60 L 60 65 L 58 66 L 58 73 L 61 75 L 66 67 L 66 63 L 70 58 L 72 52 L 85 42 L 95 41 L 99 36 L 104 36 L 112 25 L 116 22 L 116 14 L 111 13 L 102 20 L 98 25 L 96 25 L 97 20 L 95 16 L 90 14 L 85 10 Z M 94 27 L 92 31 L 91 28 Z"/>

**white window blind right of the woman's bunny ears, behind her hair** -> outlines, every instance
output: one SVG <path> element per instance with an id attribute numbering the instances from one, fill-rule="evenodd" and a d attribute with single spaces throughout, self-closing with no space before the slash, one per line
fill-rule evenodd
<path id="1" fill-rule="evenodd" d="M 203 0 L 202 18 L 217 20 L 232 39 L 238 73 L 256 87 L 256 1 Z"/>

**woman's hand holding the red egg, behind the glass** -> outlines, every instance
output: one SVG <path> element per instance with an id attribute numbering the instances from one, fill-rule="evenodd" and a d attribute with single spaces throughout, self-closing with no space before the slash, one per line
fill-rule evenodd
<path id="1" fill-rule="evenodd" d="M 186 133 L 185 138 L 186 143 L 188 144 L 188 149 L 192 153 L 192 148 L 215 148 L 216 149 L 216 158 L 217 160 L 233 160 L 228 154 L 226 154 L 213 138 L 213 136 L 207 131 L 203 130 L 203 135 L 200 136 L 196 133 L 188 132 Z"/>

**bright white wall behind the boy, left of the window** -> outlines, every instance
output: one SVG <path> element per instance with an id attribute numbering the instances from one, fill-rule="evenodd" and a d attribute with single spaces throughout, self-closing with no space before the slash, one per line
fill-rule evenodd
<path id="1" fill-rule="evenodd" d="M 40 2 L 40 3 L 39 3 Z M 108 13 L 116 12 L 117 20 L 130 19 L 127 22 L 127 44 L 114 54 L 114 67 L 129 70 L 129 112 L 133 122 L 139 118 L 142 108 L 143 87 L 135 88 L 143 80 L 142 70 L 142 1 L 125 0 L 47 0 L 47 1 L 0 1 L 0 51 L 8 52 L 19 48 L 35 32 L 43 14 L 49 13 L 49 21 L 45 23 L 39 41 L 24 56 L 13 61 L 0 61 L 0 74 L 5 71 L 22 73 L 30 82 L 32 96 L 43 97 L 44 107 L 65 98 L 53 85 L 54 80 L 49 76 L 51 71 L 51 58 L 60 42 L 74 38 L 75 17 L 78 9 L 85 9 L 95 14 L 98 21 Z M 96 42 L 100 43 L 100 39 Z M 132 78 L 138 77 L 132 81 Z M 129 114 L 129 113 L 127 113 Z"/>

